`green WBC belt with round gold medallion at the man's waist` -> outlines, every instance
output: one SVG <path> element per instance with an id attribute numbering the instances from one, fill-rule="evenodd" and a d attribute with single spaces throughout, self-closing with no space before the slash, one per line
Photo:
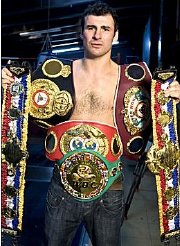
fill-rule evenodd
<path id="1" fill-rule="evenodd" d="M 70 151 L 57 163 L 64 188 L 80 201 L 97 199 L 109 189 L 122 170 L 120 161 L 109 163 L 91 150 Z"/>

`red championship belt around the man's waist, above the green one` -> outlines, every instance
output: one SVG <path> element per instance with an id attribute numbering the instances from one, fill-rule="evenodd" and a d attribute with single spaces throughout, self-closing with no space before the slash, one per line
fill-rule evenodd
<path id="1" fill-rule="evenodd" d="M 114 162 L 122 155 L 121 139 L 115 127 L 94 121 L 66 121 L 48 129 L 46 157 L 60 160 L 74 150 L 95 151 Z"/>

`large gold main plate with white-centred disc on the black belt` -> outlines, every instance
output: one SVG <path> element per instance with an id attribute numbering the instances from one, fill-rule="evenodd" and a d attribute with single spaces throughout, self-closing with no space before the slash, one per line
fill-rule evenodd
<path id="1" fill-rule="evenodd" d="M 55 114 L 64 116 L 73 107 L 70 93 L 61 91 L 48 79 L 34 80 L 31 93 L 30 115 L 35 118 L 47 119 Z"/>

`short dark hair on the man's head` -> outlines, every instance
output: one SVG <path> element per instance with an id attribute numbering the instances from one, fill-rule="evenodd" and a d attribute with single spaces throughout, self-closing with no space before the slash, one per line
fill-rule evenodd
<path id="1" fill-rule="evenodd" d="M 93 5 L 89 5 L 82 17 L 81 17 L 81 28 L 82 31 L 84 30 L 84 23 L 85 23 L 85 17 L 88 15 L 95 15 L 95 16 L 103 16 L 110 14 L 114 20 L 114 32 L 118 30 L 118 16 L 115 11 L 115 9 L 111 8 L 107 3 L 103 3 L 101 1 L 98 1 L 94 3 Z"/>

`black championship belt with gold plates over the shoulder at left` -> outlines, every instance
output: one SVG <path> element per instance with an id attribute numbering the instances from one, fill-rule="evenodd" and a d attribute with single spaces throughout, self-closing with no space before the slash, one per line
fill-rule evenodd
<path id="1" fill-rule="evenodd" d="M 68 120 L 74 108 L 72 62 L 51 58 L 45 60 L 32 74 L 31 118 L 48 128 Z"/>

